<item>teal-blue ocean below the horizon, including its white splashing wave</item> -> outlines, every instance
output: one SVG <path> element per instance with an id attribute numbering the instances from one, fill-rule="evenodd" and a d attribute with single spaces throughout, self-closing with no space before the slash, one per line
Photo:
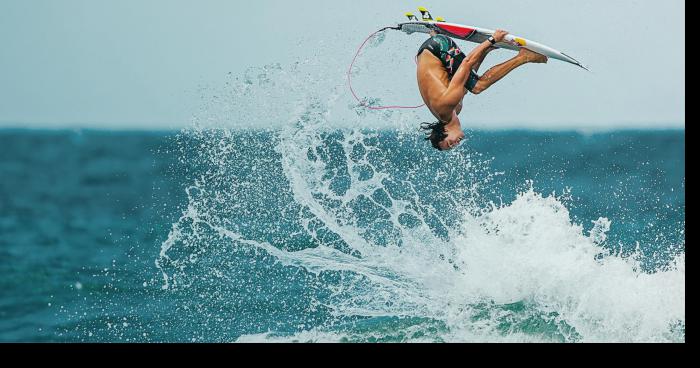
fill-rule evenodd
<path id="1" fill-rule="evenodd" d="M 323 119 L 0 131 L 0 341 L 685 341 L 684 131 Z"/>

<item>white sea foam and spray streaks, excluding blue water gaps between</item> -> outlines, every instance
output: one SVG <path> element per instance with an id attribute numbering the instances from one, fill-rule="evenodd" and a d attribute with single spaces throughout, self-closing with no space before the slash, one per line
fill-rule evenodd
<path id="1" fill-rule="evenodd" d="M 495 174 L 463 151 L 442 161 L 417 152 L 423 157 L 404 162 L 399 176 L 376 133 L 347 127 L 396 120 L 399 140 L 409 142 L 417 134 L 407 128 L 415 115 L 349 109 L 340 97 L 342 81 L 324 86 L 306 79 L 313 67 L 274 66 L 232 80 L 223 91 L 229 94 L 223 100 L 232 102 L 217 101 L 197 121 L 190 132 L 203 142 L 196 163 L 211 169 L 188 191 L 188 208 L 162 245 L 156 263 L 164 288 L 199 282 L 194 265 L 212 252 L 214 240 L 225 239 L 221 247 L 255 249 L 319 278 L 340 275 L 324 284 L 329 293 L 316 301 L 336 317 L 423 321 L 390 332 L 322 325 L 240 342 L 685 340 L 684 254 L 664 269 L 645 271 L 641 253 L 623 257 L 605 247 L 615 219 L 590 219 L 586 231 L 566 201 L 541 195 L 532 183 L 514 200 L 488 205 L 481 189 Z M 275 131 L 276 155 L 243 156 L 233 145 L 231 131 L 243 112 L 288 122 Z M 333 121 L 346 128 L 332 129 Z M 209 136 L 211 127 L 223 133 Z M 287 251 L 246 238 L 232 225 L 241 219 L 217 210 L 269 194 L 265 183 L 231 175 L 240 160 L 252 161 L 248 170 L 279 168 L 293 201 L 289 214 L 316 247 Z M 433 176 L 420 179 L 426 171 Z M 443 188 L 441 207 L 418 194 L 433 186 Z M 367 208 L 372 212 L 363 213 Z M 227 272 L 210 271 L 214 278 Z"/>

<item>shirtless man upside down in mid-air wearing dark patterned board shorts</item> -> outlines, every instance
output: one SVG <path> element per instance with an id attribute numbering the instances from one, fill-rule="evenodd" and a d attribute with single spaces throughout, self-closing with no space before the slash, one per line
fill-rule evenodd
<path id="1" fill-rule="evenodd" d="M 514 58 L 479 76 L 486 55 L 497 49 L 496 43 L 507 35 L 508 32 L 498 30 L 464 55 L 451 38 L 432 31 L 430 39 L 418 50 L 418 88 L 426 106 L 438 119 L 436 123 L 423 123 L 421 128 L 428 134 L 426 140 L 436 149 L 450 150 L 464 139 L 458 115 L 467 92 L 478 95 L 522 65 L 547 63 L 546 56 L 522 48 Z"/>

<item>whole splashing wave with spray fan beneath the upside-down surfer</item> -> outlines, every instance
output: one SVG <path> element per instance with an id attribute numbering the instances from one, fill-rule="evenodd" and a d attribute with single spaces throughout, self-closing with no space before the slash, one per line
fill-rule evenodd
<path id="1" fill-rule="evenodd" d="M 338 73 L 230 76 L 180 135 L 196 179 L 156 265 L 199 300 L 187 313 L 249 326 L 239 342 L 685 340 L 683 252 L 645 269 L 607 243 L 614 219 L 586 230 L 532 182 L 497 204 L 508 173 L 434 152 L 417 113 L 365 111 L 316 75 Z"/>

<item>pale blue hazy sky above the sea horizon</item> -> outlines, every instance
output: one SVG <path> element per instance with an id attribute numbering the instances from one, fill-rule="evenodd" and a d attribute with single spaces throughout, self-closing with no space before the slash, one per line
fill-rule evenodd
<path id="1" fill-rule="evenodd" d="M 2 0 L 0 128 L 179 129 L 191 124 L 200 87 L 291 65 L 318 45 L 340 75 L 368 34 L 421 5 L 550 45 L 591 69 L 550 61 L 517 70 L 469 97 L 475 126 L 685 127 L 682 0 Z M 415 40 L 391 55 L 411 59 Z M 414 83 L 410 63 L 400 65 L 392 78 Z M 400 97 L 419 98 L 417 89 Z"/>

